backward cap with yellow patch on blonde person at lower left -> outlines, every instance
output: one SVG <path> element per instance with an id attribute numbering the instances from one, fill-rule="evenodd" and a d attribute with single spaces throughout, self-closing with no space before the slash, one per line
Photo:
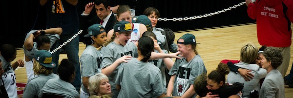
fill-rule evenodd
<path id="1" fill-rule="evenodd" d="M 35 53 L 34 59 L 37 60 L 42 66 L 53 68 L 56 64 L 52 61 L 52 55 L 47 50 L 39 50 Z"/>

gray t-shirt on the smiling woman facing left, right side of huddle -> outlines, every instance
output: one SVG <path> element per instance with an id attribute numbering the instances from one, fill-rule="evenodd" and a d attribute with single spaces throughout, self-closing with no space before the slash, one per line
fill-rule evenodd
<path id="1" fill-rule="evenodd" d="M 193 85 L 197 76 L 202 73 L 207 73 L 203 59 L 199 55 L 196 55 L 189 62 L 186 58 L 176 59 L 173 67 L 169 71 L 169 75 L 176 74 L 173 84 L 173 96 L 182 96 Z M 192 98 L 195 98 L 197 94 L 194 94 Z"/>

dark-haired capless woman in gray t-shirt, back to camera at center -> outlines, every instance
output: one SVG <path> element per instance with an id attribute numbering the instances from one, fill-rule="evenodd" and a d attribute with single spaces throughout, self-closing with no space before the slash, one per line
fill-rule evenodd
<path id="1" fill-rule="evenodd" d="M 153 39 L 147 36 L 140 38 L 137 48 L 138 57 L 122 63 L 118 70 L 116 78 L 117 88 L 120 90 L 118 98 L 167 97 L 160 69 L 148 62 L 151 52 L 154 51 Z"/>

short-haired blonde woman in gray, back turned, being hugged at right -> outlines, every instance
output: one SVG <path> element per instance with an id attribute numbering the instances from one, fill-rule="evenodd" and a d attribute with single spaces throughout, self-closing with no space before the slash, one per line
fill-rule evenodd
<path id="1" fill-rule="evenodd" d="M 254 44 L 246 44 L 241 48 L 240 51 L 240 62 L 236 63 L 235 66 L 238 66 L 243 69 L 251 70 L 251 74 L 254 76 L 250 81 L 246 81 L 238 73 L 230 71 L 227 76 L 228 83 L 240 82 L 244 83 L 244 88 L 242 89 L 243 97 L 248 98 L 252 90 L 260 90 L 260 80 L 267 76 L 265 69 L 261 68 L 256 64 L 255 59 L 258 58 L 258 49 Z"/>

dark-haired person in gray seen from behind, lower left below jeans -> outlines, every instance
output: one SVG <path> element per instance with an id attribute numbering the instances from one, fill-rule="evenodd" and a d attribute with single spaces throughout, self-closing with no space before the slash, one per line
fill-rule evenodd
<path id="1" fill-rule="evenodd" d="M 71 84 L 75 78 L 75 68 L 68 59 L 63 59 L 58 67 L 59 78 L 49 79 L 41 92 L 39 98 L 80 98 L 79 92 Z"/>

